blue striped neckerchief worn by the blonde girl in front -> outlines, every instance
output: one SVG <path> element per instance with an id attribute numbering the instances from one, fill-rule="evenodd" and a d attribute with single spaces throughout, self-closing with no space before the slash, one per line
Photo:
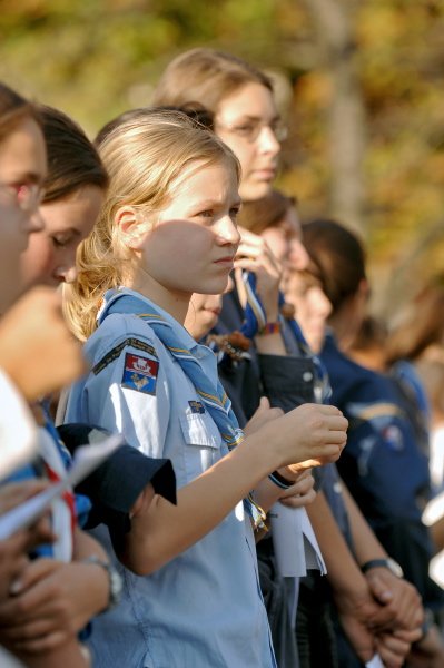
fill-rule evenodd
<path id="1" fill-rule="evenodd" d="M 231 402 L 220 381 L 218 380 L 217 384 L 214 384 L 205 373 L 200 362 L 190 351 L 181 347 L 180 340 L 172 325 L 160 315 L 154 304 L 151 302 L 147 304 L 145 299 L 135 294 L 119 291 L 108 291 L 105 294 L 105 307 L 98 314 L 99 324 L 111 313 L 135 314 L 149 324 L 156 336 L 177 360 L 186 376 L 191 381 L 197 394 L 215 421 L 228 450 L 236 448 L 244 440 L 244 432 L 237 423 L 231 410 Z M 148 313 L 147 308 L 149 310 Z M 264 528 L 265 512 L 256 504 L 251 494 L 244 500 L 244 505 L 255 527 Z"/>

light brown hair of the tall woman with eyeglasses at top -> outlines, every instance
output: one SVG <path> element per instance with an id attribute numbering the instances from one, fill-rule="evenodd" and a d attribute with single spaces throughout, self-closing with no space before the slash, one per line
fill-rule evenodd
<path id="1" fill-rule="evenodd" d="M 168 65 L 154 92 L 152 104 L 204 105 L 216 114 L 220 101 L 246 84 L 260 84 L 273 92 L 272 80 L 249 62 L 214 49 L 191 49 Z"/>

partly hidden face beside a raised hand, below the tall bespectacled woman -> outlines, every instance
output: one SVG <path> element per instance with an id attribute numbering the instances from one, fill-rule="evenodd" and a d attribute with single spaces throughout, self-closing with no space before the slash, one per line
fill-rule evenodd
<path id="1" fill-rule="evenodd" d="M 302 272 L 308 265 L 308 254 L 302 243 L 302 230 L 296 209 L 290 208 L 274 227 L 264 229 L 265 238 L 275 257 L 285 268 Z"/>

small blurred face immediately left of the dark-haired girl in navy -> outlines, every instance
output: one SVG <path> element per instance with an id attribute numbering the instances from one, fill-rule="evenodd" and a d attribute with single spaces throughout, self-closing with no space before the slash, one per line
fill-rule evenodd
<path id="1" fill-rule="evenodd" d="M 313 350 L 320 352 L 332 304 L 316 278 L 307 273 L 289 272 L 285 284 L 285 298 L 296 310 L 296 320 Z"/>

